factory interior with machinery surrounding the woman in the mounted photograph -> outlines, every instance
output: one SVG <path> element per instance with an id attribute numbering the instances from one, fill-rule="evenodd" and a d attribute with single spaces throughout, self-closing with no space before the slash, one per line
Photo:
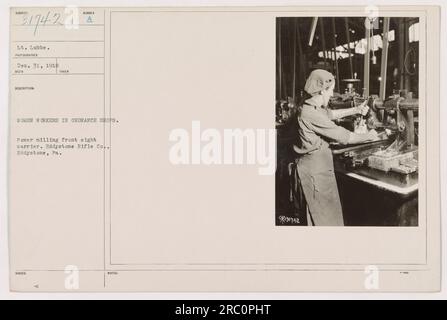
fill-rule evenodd
<path id="1" fill-rule="evenodd" d="M 307 225 L 295 206 L 291 146 L 296 110 L 315 69 L 335 77 L 329 109 L 369 106 L 366 115 L 337 125 L 386 132 L 376 141 L 330 144 L 344 225 L 419 225 L 419 32 L 414 17 L 277 18 L 276 225 Z"/>

